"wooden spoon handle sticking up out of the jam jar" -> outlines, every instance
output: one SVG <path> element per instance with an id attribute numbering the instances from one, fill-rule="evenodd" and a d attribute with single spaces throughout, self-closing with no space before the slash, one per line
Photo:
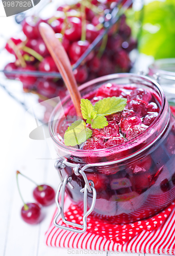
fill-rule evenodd
<path id="1" fill-rule="evenodd" d="M 52 58 L 54 59 L 57 68 L 59 69 L 65 86 L 71 95 L 71 99 L 75 106 L 77 115 L 82 117 L 80 109 L 81 95 L 78 90 L 74 74 L 72 72 L 71 62 L 69 60 L 68 54 L 65 52 L 61 42 L 55 37 L 55 32 L 48 24 L 40 23 L 39 32 L 45 41 L 45 44 Z"/>

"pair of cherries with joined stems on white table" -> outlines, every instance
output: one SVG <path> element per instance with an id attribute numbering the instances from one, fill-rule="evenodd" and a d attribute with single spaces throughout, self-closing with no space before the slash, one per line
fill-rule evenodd
<path id="1" fill-rule="evenodd" d="M 21 196 L 19 185 L 18 185 L 18 175 L 22 175 L 25 178 L 32 181 L 34 184 L 36 184 L 33 180 L 26 177 L 24 174 L 21 174 L 18 170 L 16 172 L 16 180 L 17 180 L 17 187 L 19 191 L 19 195 L 21 197 L 21 200 L 24 203 L 24 206 L 21 208 L 20 215 L 21 218 L 27 222 L 28 224 L 37 224 L 41 221 L 41 207 L 42 206 L 48 206 L 51 205 L 54 202 L 55 199 L 55 191 L 54 189 L 49 185 L 37 185 L 35 189 L 33 190 L 33 197 L 36 200 L 37 203 L 25 203 L 23 200 L 23 197 Z"/>

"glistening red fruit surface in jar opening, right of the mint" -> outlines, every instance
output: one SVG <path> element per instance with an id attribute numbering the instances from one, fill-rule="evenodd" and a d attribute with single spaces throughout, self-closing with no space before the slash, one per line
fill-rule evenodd
<path id="1" fill-rule="evenodd" d="M 103 84 L 92 103 L 106 97 L 127 98 L 125 109 L 106 116 L 108 125 L 103 129 L 92 129 L 92 137 L 86 141 L 83 150 L 96 150 L 123 144 L 141 134 L 154 122 L 159 113 L 159 102 L 150 91 L 132 86 Z"/>

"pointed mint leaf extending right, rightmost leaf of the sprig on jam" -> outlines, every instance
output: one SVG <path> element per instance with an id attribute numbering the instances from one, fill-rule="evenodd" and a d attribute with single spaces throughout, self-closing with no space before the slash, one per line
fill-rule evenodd
<path id="1" fill-rule="evenodd" d="M 126 103 L 126 98 L 120 98 L 115 96 L 108 97 L 97 101 L 95 103 L 94 110 L 97 111 L 97 114 L 108 116 L 124 110 Z"/>

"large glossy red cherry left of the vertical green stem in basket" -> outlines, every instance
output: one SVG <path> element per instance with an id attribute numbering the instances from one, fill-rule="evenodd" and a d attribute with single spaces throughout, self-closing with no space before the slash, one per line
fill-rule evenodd
<path id="1" fill-rule="evenodd" d="M 71 17 L 69 19 L 69 28 L 65 30 L 64 36 L 70 41 L 78 41 L 81 38 L 81 19 Z"/>

